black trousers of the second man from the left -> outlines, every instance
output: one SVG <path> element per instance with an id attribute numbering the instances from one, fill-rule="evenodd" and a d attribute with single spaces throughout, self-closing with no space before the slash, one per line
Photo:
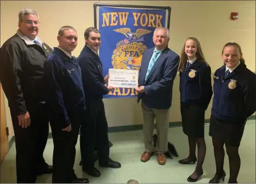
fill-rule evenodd
<path id="1" fill-rule="evenodd" d="M 77 179 L 74 172 L 75 145 L 79 128 L 81 126 L 82 115 L 69 115 L 71 121 L 71 131 L 63 131 L 60 128 L 62 122 L 51 121 L 51 132 L 53 135 L 53 183 L 70 183 Z"/>

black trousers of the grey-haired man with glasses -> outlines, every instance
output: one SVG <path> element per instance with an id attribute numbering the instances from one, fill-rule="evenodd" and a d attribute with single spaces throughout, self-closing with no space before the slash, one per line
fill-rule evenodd
<path id="1" fill-rule="evenodd" d="M 30 114 L 30 126 L 19 126 L 18 116 L 11 109 L 16 146 L 17 183 L 35 183 L 36 174 L 48 165 L 43 152 L 49 134 L 49 114 L 46 104 L 27 105 Z"/>

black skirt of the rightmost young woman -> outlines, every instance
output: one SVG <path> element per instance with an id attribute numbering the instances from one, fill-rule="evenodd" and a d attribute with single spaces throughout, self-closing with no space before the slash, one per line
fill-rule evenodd
<path id="1" fill-rule="evenodd" d="M 245 122 L 226 123 L 211 115 L 209 136 L 222 140 L 227 146 L 239 147 L 244 134 L 244 126 Z"/>

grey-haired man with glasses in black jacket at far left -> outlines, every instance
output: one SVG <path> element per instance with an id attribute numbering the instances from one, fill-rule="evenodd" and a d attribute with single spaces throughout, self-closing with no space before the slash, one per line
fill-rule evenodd
<path id="1" fill-rule="evenodd" d="M 18 26 L 0 49 L 0 80 L 15 134 L 17 183 L 34 183 L 37 175 L 53 170 L 43 158 L 49 133 L 43 66 L 52 49 L 37 37 L 34 10 L 21 10 Z"/>

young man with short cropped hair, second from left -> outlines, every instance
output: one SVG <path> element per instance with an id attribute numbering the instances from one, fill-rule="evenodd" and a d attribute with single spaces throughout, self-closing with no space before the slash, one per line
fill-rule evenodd
<path id="1" fill-rule="evenodd" d="M 57 39 L 59 46 L 44 65 L 46 102 L 54 143 L 53 183 L 89 183 L 88 179 L 77 178 L 73 169 L 75 145 L 85 113 L 81 69 L 71 55 L 77 47 L 77 31 L 71 26 L 63 26 Z"/>

